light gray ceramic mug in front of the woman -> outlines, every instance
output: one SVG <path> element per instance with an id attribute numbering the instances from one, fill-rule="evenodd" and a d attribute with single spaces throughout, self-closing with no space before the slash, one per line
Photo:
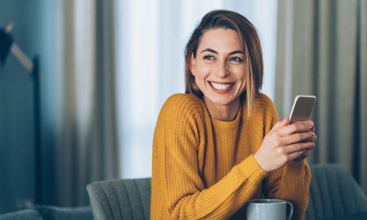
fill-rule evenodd
<path id="1" fill-rule="evenodd" d="M 293 206 L 280 199 L 252 199 L 246 203 L 247 220 L 290 220 Z"/>

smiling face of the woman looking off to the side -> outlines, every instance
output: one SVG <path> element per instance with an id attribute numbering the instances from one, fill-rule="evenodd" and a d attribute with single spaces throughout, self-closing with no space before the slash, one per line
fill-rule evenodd
<path id="1" fill-rule="evenodd" d="M 210 106 L 239 103 L 246 89 L 243 46 L 236 31 L 215 29 L 206 32 L 191 56 L 190 70 Z"/>

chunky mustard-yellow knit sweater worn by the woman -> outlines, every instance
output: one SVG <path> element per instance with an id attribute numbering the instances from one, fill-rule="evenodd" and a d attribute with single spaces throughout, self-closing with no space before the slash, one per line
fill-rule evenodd
<path id="1" fill-rule="evenodd" d="M 176 94 L 164 103 L 153 137 L 150 219 L 245 219 L 250 199 L 284 199 L 301 220 L 308 205 L 306 162 L 266 173 L 253 154 L 278 121 L 272 101 L 256 98 L 247 117 L 241 101 L 234 121 L 209 116 L 202 99 Z"/>

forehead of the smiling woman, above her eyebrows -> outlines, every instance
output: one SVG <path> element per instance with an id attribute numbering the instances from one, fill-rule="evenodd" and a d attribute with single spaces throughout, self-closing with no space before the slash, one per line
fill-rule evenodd
<path id="1" fill-rule="evenodd" d="M 238 33 L 232 29 L 214 29 L 207 31 L 200 39 L 198 52 L 200 53 L 200 49 L 203 48 L 210 48 L 217 52 L 243 50 Z"/>

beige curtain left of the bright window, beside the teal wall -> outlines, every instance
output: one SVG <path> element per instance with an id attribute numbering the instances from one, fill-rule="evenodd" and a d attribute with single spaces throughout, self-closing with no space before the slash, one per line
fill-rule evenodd
<path id="1" fill-rule="evenodd" d="M 119 177 L 112 0 L 58 1 L 57 205 L 89 205 L 86 185 Z"/>

